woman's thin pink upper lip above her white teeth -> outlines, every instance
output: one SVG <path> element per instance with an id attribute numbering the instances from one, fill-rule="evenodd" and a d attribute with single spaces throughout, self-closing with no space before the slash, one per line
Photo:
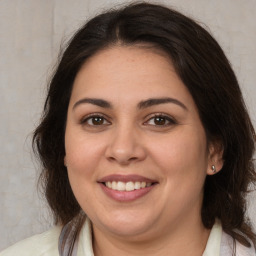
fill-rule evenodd
<path id="1" fill-rule="evenodd" d="M 148 182 L 148 183 L 155 183 L 157 182 L 156 180 L 152 180 L 140 175 L 136 175 L 136 174 L 128 174 L 128 175 L 120 175 L 120 174 L 112 174 L 112 175 L 108 175 L 105 176 L 101 179 L 98 180 L 98 182 L 103 183 L 103 182 L 107 182 L 107 181 L 122 181 L 122 182 L 136 182 L 136 181 L 140 181 L 140 182 Z"/>

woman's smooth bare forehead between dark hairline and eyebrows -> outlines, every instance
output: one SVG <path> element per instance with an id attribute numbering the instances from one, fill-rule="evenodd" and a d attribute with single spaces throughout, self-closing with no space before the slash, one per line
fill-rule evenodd
<path id="1" fill-rule="evenodd" d="M 82 96 L 110 101 L 170 96 L 193 101 L 165 53 L 144 46 L 113 46 L 89 58 L 76 76 L 71 99 Z"/>

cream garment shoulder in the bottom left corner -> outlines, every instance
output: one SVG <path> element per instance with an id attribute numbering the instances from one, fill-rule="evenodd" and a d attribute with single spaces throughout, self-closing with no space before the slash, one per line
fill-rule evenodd
<path id="1" fill-rule="evenodd" d="M 58 239 L 61 232 L 60 226 L 22 240 L 6 250 L 0 256 L 58 256 Z"/>

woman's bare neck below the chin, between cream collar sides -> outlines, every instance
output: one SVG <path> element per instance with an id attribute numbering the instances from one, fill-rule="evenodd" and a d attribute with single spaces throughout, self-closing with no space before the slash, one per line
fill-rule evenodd
<path id="1" fill-rule="evenodd" d="M 210 230 L 206 229 L 201 219 L 186 221 L 167 231 L 153 231 L 154 236 L 133 236 L 131 238 L 113 236 L 93 226 L 93 249 L 95 256 L 198 256 L 205 249 Z M 151 237 L 151 238 L 150 238 Z"/>

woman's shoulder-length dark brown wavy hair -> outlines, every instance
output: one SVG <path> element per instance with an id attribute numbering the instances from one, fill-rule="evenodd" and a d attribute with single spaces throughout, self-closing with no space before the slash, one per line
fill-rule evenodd
<path id="1" fill-rule="evenodd" d="M 76 74 L 96 52 L 116 44 L 147 43 L 161 49 L 197 105 L 208 141 L 223 148 L 222 170 L 207 176 L 202 221 L 211 228 L 215 218 L 223 230 L 245 246 L 256 236 L 245 217 L 253 165 L 255 133 L 236 76 L 221 47 L 192 19 L 169 8 L 138 3 L 100 14 L 70 40 L 48 88 L 33 145 L 42 163 L 41 184 L 56 223 L 78 219 L 81 208 L 64 166 L 67 108 Z"/>

